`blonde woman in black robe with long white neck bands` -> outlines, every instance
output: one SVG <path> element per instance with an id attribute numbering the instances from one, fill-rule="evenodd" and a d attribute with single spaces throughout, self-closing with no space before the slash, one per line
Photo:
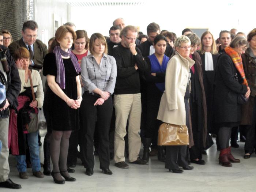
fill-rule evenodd
<path id="1" fill-rule="evenodd" d="M 205 31 L 201 36 L 200 49 L 198 53 L 202 61 L 203 83 L 207 105 L 207 129 L 210 133 L 214 131 L 213 121 L 213 85 L 219 53 L 216 42 L 210 31 Z M 206 148 L 207 149 L 207 148 Z"/>

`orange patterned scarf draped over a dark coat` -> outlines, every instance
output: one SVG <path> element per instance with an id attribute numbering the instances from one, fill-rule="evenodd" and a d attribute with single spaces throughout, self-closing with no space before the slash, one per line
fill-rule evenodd
<path id="1" fill-rule="evenodd" d="M 227 46 L 225 48 L 225 52 L 231 57 L 234 65 L 236 66 L 237 71 L 240 73 L 242 79 L 244 82 L 242 84 L 245 84 L 248 86 L 248 82 L 245 79 L 245 74 L 244 74 L 244 67 L 242 63 L 242 57 L 239 55 L 234 49 L 232 49 L 230 46 Z"/>

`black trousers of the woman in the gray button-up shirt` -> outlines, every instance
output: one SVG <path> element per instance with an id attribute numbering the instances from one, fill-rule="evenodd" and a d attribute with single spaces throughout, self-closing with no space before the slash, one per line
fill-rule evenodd
<path id="1" fill-rule="evenodd" d="M 109 127 L 113 111 L 112 97 L 109 97 L 102 105 L 94 106 L 99 97 L 90 94 L 83 94 L 81 103 L 81 159 L 85 168 L 94 167 L 93 140 L 95 129 L 98 132 L 98 155 L 99 167 L 109 167 Z M 97 121 L 97 125 L 96 125 Z M 95 126 L 96 125 L 96 126 Z"/>

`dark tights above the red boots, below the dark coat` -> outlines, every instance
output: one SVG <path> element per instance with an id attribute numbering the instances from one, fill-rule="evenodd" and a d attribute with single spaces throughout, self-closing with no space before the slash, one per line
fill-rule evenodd
<path id="1" fill-rule="evenodd" d="M 221 127 L 218 132 L 219 149 L 225 149 L 229 147 L 229 140 L 231 137 L 232 127 Z"/>

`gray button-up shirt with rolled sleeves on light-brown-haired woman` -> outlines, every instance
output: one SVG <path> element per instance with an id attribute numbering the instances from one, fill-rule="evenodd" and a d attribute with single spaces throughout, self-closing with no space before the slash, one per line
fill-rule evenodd
<path id="1" fill-rule="evenodd" d="M 103 53 L 101 63 L 98 65 L 93 55 L 83 57 L 81 62 L 81 77 L 84 90 L 92 93 L 97 87 L 102 91 L 114 93 L 116 84 L 116 60 Z"/>

